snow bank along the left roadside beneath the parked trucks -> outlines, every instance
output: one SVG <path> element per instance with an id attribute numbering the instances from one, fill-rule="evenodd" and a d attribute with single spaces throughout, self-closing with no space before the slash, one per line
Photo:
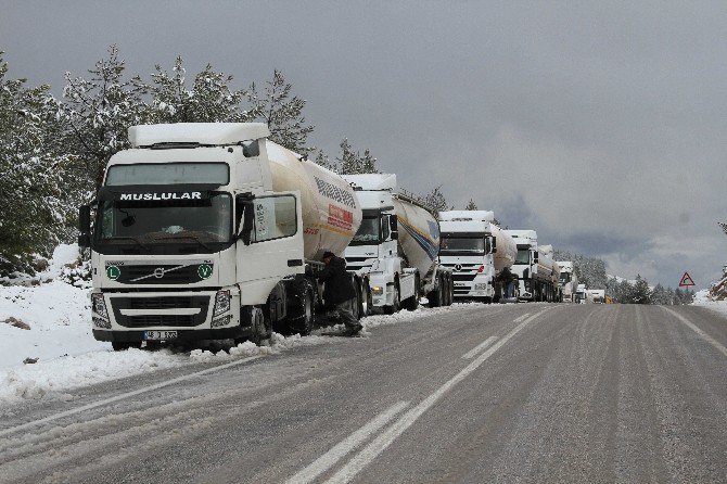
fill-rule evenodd
<path id="1" fill-rule="evenodd" d="M 59 259 L 68 258 L 74 255 L 72 249 L 56 251 L 55 255 Z M 326 335 L 343 329 L 334 326 L 317 329 L 314 334 L 303 337 L 276 334 L 267 346 L 247 342 L 226 349 L 194 349 L 191 353 L 173 349 L 114 352 L 109 343 L 93 339 L 89 290 L 53 280 L 60 275 L 59 267 L 61 264 L 53 260 L 48 271 L 37 278 L 50 282 L 0 286 L 0 405 L 22 399 L 69 399 L 72 396 L 64 392 L 132 374 L 345 341 Z M 409 322 L 468 306 L 458 304 L 451 308 L 420 308 L 392 316 L 371 316 L 362 320 L 362 335 L 370 335 L 369 330 L 379 326 Z M 11 323 L 2 322 L 8 320 Z M 29 358 L 28 362 L 24 362 L 26 358 Z"/>

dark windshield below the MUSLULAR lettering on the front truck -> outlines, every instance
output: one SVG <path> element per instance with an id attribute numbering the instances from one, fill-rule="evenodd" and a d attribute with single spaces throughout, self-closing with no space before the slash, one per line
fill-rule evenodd
<path id="1" fill-rule="evenodd" d="M 227 193 L 205 200 L 101 201 L 95 228 L 100 243 L 149 244 L 229 242 L 232 202 Z"/>

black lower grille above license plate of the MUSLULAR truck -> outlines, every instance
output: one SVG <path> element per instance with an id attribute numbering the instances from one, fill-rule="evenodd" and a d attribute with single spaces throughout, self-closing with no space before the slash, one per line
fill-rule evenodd
<path id="1" fill-rule="evenodd" d="M 207 319 L 209 296 L 150 296 L 111 297 L 116 322 L 125 328 L 195 327 Z M 133 315 L 125 316 L 122 309 L 188 309 L 199 308 L 196 315 Z"/>

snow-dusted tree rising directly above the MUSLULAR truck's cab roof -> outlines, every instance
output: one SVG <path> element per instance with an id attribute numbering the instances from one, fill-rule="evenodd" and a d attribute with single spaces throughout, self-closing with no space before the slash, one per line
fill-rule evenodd
<path id="1" fill-rule="evenodd" d="M 148 88 L 153 97 L 153 123 L 245 123 L 259 114 L 241 109 L 246 92 L 233 90 L 232 76 L 214 72 L 211 64 L 194 76 L 191 87 L 187 85 L 181 55 L 177 56 L 171 74 L 158 64 L 155 69 Z"/>

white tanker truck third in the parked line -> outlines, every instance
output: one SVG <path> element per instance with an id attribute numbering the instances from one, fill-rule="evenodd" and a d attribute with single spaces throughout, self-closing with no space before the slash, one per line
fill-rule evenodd
<path id="1" fill-rule="evenodd" d="M 498 277 L 513 265 L 518 246 L 494 220 L 490 211 L 439 212 L 439 258 L 454 270 L 456 298 L 489 304 L 505 295 L 507 282 Z"/>

